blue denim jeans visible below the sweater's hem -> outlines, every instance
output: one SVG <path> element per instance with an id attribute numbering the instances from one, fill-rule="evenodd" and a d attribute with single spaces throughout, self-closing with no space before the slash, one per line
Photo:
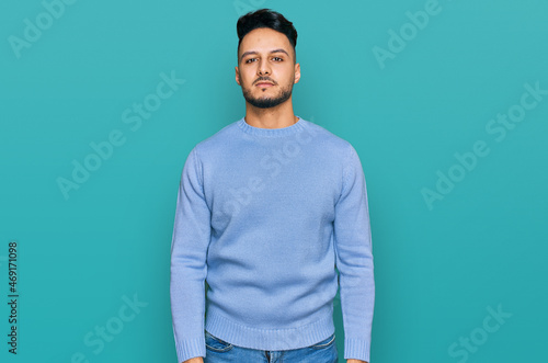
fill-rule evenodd
<path id="1" fill-rule="evenodd" d="M 335 334 L 313 345 L 285 350 L 263 351 L 230 344 L 205 331 L 204 363 L 338 363 Z"/>

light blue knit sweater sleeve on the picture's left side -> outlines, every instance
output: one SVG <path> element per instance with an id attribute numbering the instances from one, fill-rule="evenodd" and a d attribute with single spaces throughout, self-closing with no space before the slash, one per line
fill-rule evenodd
<path id="1" fill-rule="evenodd" d="M 205 356 L 205 279 L 210 238 L 196 148 L 183 167 L 171 242 L 170 298 L 178 362 Z"/>

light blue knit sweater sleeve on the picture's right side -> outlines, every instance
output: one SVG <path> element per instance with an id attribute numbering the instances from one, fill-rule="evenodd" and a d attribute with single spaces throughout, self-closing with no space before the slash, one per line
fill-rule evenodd
<path id="1" fill-rule="evenodd" d="M 367 192 L 362 163 L 350 146 L 335 204 L 334 248 L 344 327 L 344 359 L 369 362 L 375 281 Z"/>

